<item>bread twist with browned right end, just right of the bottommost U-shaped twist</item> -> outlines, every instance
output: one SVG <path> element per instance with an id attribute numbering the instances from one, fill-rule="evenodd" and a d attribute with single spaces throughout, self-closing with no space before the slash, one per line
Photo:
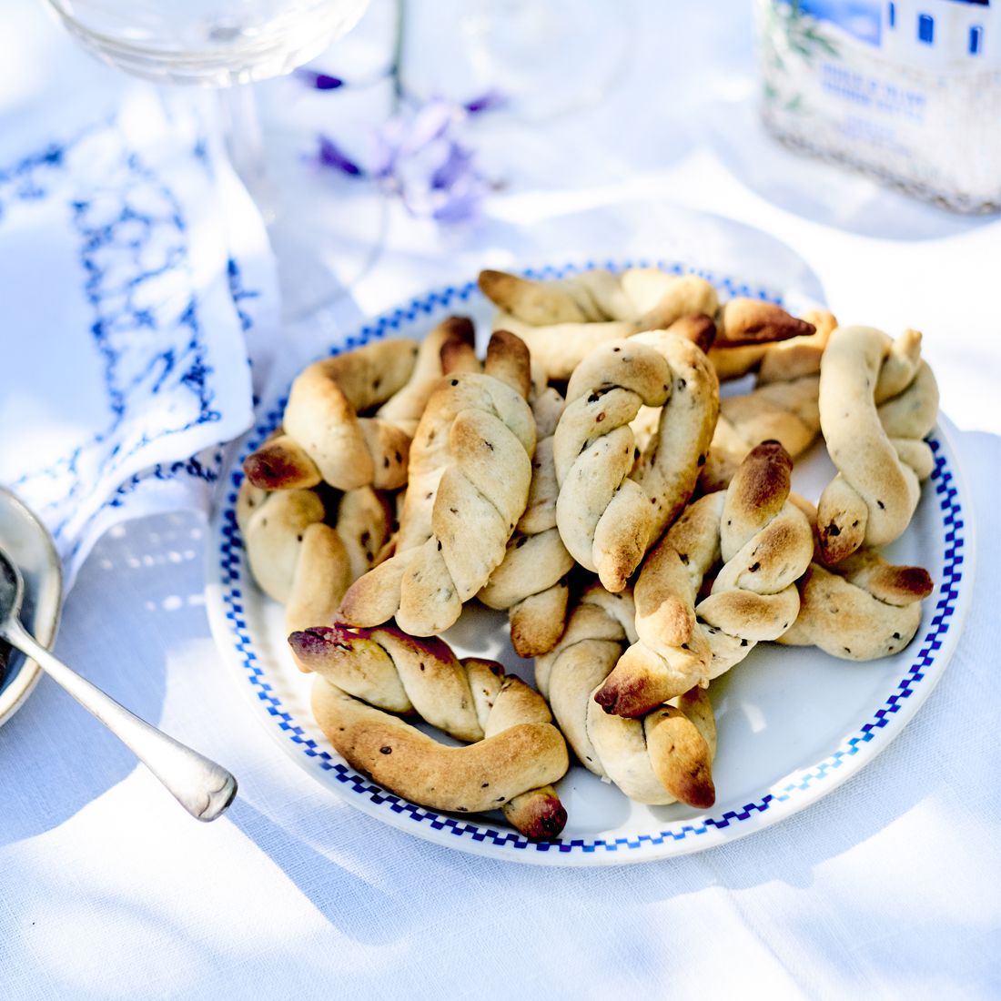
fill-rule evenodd
<path id="1" fill-rule="evenodd" d="M 693 689 L 642 720 L 601 712 L 594 694 L 636 641 L 627 590 L 590 586 L 556 649 L 536 662 L 536 681 L 581 763 L 640 803 L 713 805 L 716 724 L 709 696 Z"/>

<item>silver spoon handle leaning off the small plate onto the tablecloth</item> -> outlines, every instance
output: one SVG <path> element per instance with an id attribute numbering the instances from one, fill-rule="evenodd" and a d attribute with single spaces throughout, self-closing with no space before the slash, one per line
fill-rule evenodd
<path id="1" fill-rule="evenodd" d="M 192 817 L 215 820 L 236 795 L 236 780 L 220 765 L 140 720 L 37 643 L 16 620 L 0 635 L 17 647 L 141 761 Z"/>

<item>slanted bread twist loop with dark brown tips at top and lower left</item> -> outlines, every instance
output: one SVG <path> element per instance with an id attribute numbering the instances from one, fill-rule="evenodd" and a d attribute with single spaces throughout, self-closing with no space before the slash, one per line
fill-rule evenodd
<path id="1" fill-rule="evenodd" d="M 788 500 L 792 459 L 760 444 L 726 491 L 686 509 L 647 557 L 636 586 L 635 643 L 595 696 L 607 713 L 642 716 L 740 663 L 796 619 L 795 581 L 813 554 L 806 516 Z M 703 579 L 724 561 L 708 598 Z"/>

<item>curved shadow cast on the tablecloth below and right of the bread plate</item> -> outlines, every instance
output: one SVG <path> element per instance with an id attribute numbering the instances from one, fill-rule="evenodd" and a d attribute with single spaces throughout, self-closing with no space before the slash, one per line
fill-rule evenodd
<path id="1" fill-rule="evenodd" d="M 1001 533 L 991 499 L 1001 467 L 1001 438 L 956 435 L 974 500 L 983 555 Z M 403 940 L 447 903 L 449 924 L 488 921 L 495 911 L 573 912 L 586 905 L 595 922 L 582 924 L 580 948 L 601 949 L 600 929 L 636 903 L 655 904 L 711 888 L 731 893 L 764 884 L 814 887 L 832 860 L 866 852 L 869 842 L 916 816 L 938 816 L 977 797 L 993 781 L 994 666 L 984 656 L 993 627 L 991 594 L 1001 572 L 981 559 L 966 635 L 949 670 L 917 717 L 887 750 L 843 787 L 785 822 L 730 845 L 675 860 L 602 869 L 522 866 L 482 859 L 418 841 L 330 803 L 290 805 L 272 820 L 247 802 L 234 805 L 234 824 L 279 866 L 331 925 L 359 942 Z M 961 733 L 960 733 L 961 732 Z M 971 737 L 971 735 L 973 735 Z M 901 860 L 902 865 L 913 865 Z M 860 872 L 867 884 L 876 874 Z M 515 895 L 513 897 L 513 895 Z M 635 911 L 631 912 L 634 913 Z M 437 920 L 435 918 L 434 920 Z M 638 932 L 641 936 L 644 932 Z M 654 932 L 651 932 L 654 934 Z M 659 934 L 659 933 L 658 933 Z M 592 942 L 592 938 L 595 941 Z M 545 951 L 520 940 L 520 950 Z"/>

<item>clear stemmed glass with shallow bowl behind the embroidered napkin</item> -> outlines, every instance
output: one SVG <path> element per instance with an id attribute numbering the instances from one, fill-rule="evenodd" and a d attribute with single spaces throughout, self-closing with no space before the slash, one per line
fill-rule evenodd
<path id="1" fill-rule="evenodd" d="M 354 27 L 368 0 L 47 2 L 70 34 L 102 61 L 159 84 L 215 88 L 229 159 L 273 240 L 281 211 L 267 176 L 252 84 L 319 55 Z M 332 274 L 322 289 L 315 282 L 308 291 L 282 287 L 283 312 L 301 315 L 342 290 Z"/>

